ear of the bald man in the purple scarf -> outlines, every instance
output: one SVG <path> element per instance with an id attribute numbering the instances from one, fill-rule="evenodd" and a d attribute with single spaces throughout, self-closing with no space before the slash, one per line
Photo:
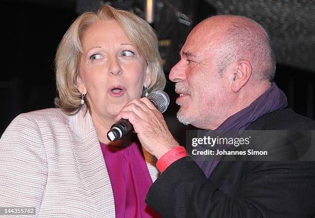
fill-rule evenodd
<path id="1" fill-rule="evenodd" d="M 233 71 L 234 74 L 231 78 L 231 90 L 232 92 L 237 93 L 248 82 L 252 75 L 251 62 L 240 60 L 237 62 L 236 69 Z"/>

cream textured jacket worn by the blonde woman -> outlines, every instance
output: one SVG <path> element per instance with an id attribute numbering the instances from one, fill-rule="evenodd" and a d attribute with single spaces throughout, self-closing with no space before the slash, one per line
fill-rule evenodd
<path id="1" fill-rule="evenodd" d="M 7 217 L 115 217 L 99 140 L 91 115 L 83 115 L 49 108 L 8 126 L 0 139 L 0 207 L 35 207 L 36 215 Z M 159 171 L 143 152 L 154 181 Z"/>

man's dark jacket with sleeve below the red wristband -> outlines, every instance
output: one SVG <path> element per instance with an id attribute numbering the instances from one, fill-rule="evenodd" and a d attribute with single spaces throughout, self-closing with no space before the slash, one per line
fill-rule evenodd
<path id="1" fill-rule="evenodd" d="M 315 130 L 315 122 L 279 109 L 248 129 Z M 153 183 L 146 202 L 172 218 L 315 217 L 315 161 L 220 161 L 206 178 L 181 158 Z"/>

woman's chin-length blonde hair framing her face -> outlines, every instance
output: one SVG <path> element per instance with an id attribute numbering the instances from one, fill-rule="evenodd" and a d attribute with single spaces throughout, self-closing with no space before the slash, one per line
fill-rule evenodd
<path id="1" fill-rule="evenodd" d="M 64 34 L 56 53 L 55 69 L 59 98 L 55 105 L 67 114 L 75 114 L 81 107 L 81 93 L 77 89 L 80 58 L 82 54 L 81 40 L 86 29 L 100 20 L 114 20 L 127 37 L 142 54 L 151 71 L 152 82 L 148 92 L 163 90 L 165 75 L 159 53 L 158 39 L 152 27 L 135 14 L 118 10 L 105 5 L 97 11 L 84 12 L 73 22 Z M 85 100 L 88 109 L 89 102 Z"/>

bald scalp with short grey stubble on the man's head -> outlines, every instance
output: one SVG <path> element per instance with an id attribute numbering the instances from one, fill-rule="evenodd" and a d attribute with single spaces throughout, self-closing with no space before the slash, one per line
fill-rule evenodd
<path id="1" fill-rule="evenodd" d="M 191 33 L 208 40 L 218 54 L 220 74 L 232 61 L 248 60 L 252 76 L 273 80 L 275 59 L 265 29 L 255 21 L 242 16 L 216 15 L 199 23 Z"/>

